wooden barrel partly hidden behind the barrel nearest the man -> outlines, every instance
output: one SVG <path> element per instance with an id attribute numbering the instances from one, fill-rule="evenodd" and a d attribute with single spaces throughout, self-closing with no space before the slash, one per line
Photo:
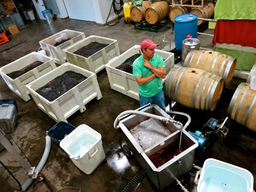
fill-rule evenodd
<path id="1" fill-rule="evenodd" d="M 225 87 L 229 87 L 235 73 L 236 59 L 221 52 L 194 50 L 190 51 L 183 66 L 204 69 L 223 77 Z"/>

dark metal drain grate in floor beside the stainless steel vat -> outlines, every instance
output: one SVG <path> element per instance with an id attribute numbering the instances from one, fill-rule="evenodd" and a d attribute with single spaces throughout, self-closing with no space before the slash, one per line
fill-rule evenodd
<path id="1" fill-rule="evenodd" d="M 147 176 L 147 172 L 143 168 L 140 168 L 140 170 L 138 170 L 138 172 L 136 172 L 136 174 L 132 177 L 132 179 L 129 180 L 129 182 L 121 192 L 134 191 L 137 188 L 138 183 L 140 183 L 146 176 Z"/>

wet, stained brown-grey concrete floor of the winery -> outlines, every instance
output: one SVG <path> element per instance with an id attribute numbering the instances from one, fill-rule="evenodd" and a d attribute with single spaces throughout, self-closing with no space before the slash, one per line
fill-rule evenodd
<path id="1" fill-rule="evenodd" d="M 124 18 L 115 26 L 99 26 L 93 22 L 80 20 L 54 21 L 49 25 L 46 21 L 29 21 L 27 26 L 20 29 L 20 34 L 12 35 L 9 43 L 0 46 L 0 67 L 13 62 L 26 54 L 38 51 L 38 41 L 49 37 L 52 34 L 64 29 L 77 30 L 84 32 L 86 37 L 98 35 L 101 37 L 118 40 L 121 53 L 131 48 L 135 44 L 140 44 L 144 38 L 152 38 L 156 43 L 160 41 L 164 34 L 173 38 L 172 24 L 163 26 L 158 32 L 147 30 L 135 30 L 132 23 L 124 24 Z M 213 34 L 213 29 L 205 26 L 199 30 L 207 34 Z M 201 47 L 212 49 L 212 37 L 199 35 Z M 80 113 L 76 112 L 68 118 L 68 122 L 74 126 L 87 124 L 102 135 L 102 146 L 106 155 L 105 160 L 96 168 L 92 174 L 87 175 L 80 171 L 68 155 L 52 142 L 51 152 L 46 165 L 42 169 L 45 179 L 41 182 L 35 181 L 27 191 L 57 191 L 64 187 L 80 188 L 81 191 L 122 191 L 132 176 L 141 168 L 139 162 L 134 157 L 127 158 L 121 147 L 126 139 L 126 135 L 121 129 L 114 129 L 113 122 L 121 112 L 134 110 L 139 107 L 138 101 L 110 88 L 107 73 L 105 70 L 99 72 L 98 83 L 102 93 L 102 99 L 93 100 L 85 107 L 87 110 Z M 244 79 L 233 78 L 229 88 L 223 91 L 221 99 L 213 112 L 199 111 L 178 105 L 177 110 L 188 113 L 191 116 L 191 124 L 187 130 L 197 130 L 207 123 L 210 117 L 221 119 L 227 116 L 227 108 L 230 99 L 236 89 Z M 44 151 L 46 131 L 51 129 L 56 122 L 42 112 L 33 99 L 23 101 L 17 94 L 13 93 L 0 78 L 0 99 L 15 99 L 18 104 L 18 123 L 15 131 L 10 133 L 10 140 L 16 151 L 27 160 L 31 166 L 37 166 Z M 166 99 L 166 105 L 168 99 Z M 216 141 L 213 148 L 205 154 L 195 154 L 194 163 L 198 166 L 203 165 L 207 158 L 216 158 L 224 162 L 245 168 L 256 176 L 256 133 L 246 127 L 229 121 L 230 131 L 224 141 Z M 0 160 L 14 174 L 16 179 L 23 184 L 28 177 L 24 175 L 24 169 L 6 150 L 0 154 Z M 1 166 L 1 170 L 4 170 Z M 194 173 L 191 170 L 180 180 L 189 191 L 197 191 L 194 184 Z M 18 185 L 5 171 L 1 171 L 4 180 L 3 184 L 10 183 L 15 188 Z M 230 183 L 231 184 L 231 183 Z M 254 186 L 255 180 L 254 180 Z M 254 187 L 254 189 L 255 189 Z M 6 190 L 8 191 L 8 190 Z M 79 191 L 76 189 L 63 189 L 62 191 Z M 151 180 L 146 177 L 139 183 L 134 191 L 157 191 Z M 182 191 L 176 182 L 163 191 Z"/>

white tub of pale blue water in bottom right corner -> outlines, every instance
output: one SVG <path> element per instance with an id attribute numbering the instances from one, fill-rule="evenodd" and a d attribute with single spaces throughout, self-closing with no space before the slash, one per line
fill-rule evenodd
<path id="1" fill-rule="evenodd" d="M 221 162 L 205 160 L 197 185 L 198 192 L 253 192 L 254 177 L 246 169 Z"/>

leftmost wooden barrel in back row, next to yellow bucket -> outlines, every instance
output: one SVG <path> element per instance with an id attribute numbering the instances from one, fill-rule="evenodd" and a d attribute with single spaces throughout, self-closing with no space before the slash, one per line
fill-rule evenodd
<path id="1" fill-rule="evenodd" d="M 145 20 L 146 9 L 152 4 L 151 1 L 143 1 L 141 7 L 132 7 L 130 15 L 134 22 L 140 22 Z"/>

